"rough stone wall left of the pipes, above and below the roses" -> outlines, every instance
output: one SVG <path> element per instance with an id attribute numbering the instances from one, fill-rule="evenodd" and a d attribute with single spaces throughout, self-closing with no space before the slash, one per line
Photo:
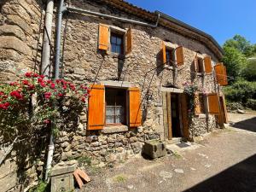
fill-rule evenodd
<path id="1" fill-rule="evenodd" d="M 27 71 L 38 69 L 41 61 L 44 6 L 41 0 L 0 1 L 0 84 L 14 81 Z M 0 156 L 10 143 L 0 137 Z M 32 141 L 15 143 L 0 166 L 1 191 L 23 191 L 38 180 Z"/>

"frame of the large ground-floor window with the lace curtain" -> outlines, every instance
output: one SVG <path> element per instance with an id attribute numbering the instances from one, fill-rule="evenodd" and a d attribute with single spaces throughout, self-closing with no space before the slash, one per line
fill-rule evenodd
<path id="1" fill-rule="evenodd" d="M 107 123 L 107 107 L 108 107 L 108 102 L 107 102 L 107 92 L 108 90 L 123 90 L 124 91 L 124 99 L 125 101 L 123 102 L 124 105 L 124 114 L 123 114 L 123 118 L 124 118 L 124 123 L 116 123 L 116 114 L 114 114 L 114 122 L 115 123 Z M 127 107 L 127 101 L 128 97 L 127 97 L 127 89 L 125 88 L 119 88 L 119 87 L 110 87 L 110 86 L 105 86 L 105 122 L 104 125 L 105 126 L 116 126 L 116 125 L 128 125 L 128 118 L 127 118 L 127 114 L 128 114 L 128 107 Z M 116 107 L 116 102 L 114 107 Z M 115 113 L 116 109 L 114 109 L 114 113 Z"/>

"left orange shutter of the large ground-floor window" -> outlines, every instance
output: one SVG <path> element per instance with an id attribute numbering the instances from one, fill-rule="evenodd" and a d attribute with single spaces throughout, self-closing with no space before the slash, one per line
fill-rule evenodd
<path id="1" fill-rule="evenodd" d="M 101 130 L 105 121 L 104 85 L 94 84 L 90 90 L 88 103 L 88 130 Z"/>

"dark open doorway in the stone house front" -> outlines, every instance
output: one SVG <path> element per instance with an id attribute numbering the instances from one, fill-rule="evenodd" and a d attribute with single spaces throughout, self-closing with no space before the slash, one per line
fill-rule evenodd
<path id="1" fill-rule="evenodd" d="M 171 94 L 172 137 L 182 137 L 179 121 L 178 95 Z"/>

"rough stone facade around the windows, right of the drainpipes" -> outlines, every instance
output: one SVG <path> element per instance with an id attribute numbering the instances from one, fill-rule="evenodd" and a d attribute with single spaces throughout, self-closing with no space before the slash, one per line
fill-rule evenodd
<path id="1" fill-rule="evenodd" d="M 73 1 L 70 6 L 139 20 L 135 16 L 126 15 L 122 11 L 90 1 Z M 131 26 L 131 54 L 119 56 L 108 51 L 107 55 L 103 55 L 97 46 L 100 23 L 122 29 Z M 172 42 L 174 47 L 183 45 L 184 65 L 177 76 L 177 86 L 180 89 L 183 89 L 182 84 L 185 81 L 191 80 L 199 86 L 200 90 L 204 89 L 207 92 L 215 90 L 212 75 L 202 78 L 190 73 L 197 52 L 202 56 L 211 55 L 212 63 L 218 62 L 215 55 L 203 44 L 170 32 L 162 26 L 150 28 L 89 15 L 68 14 L 63 19 L 63 33 L 66 33 L 64 46 L 62 44 L 64 78 L 85 84 L 91 84 L 94 80 L 96 84 L 104 81 L 124 81 L 139 87 L 142 90 L 143 99 L 143 126 L 138 130 L 108 135 L 102 131 L 86 131 L 87 119 L 84 113 L 84 117 L 79 122 L 79 131 L 61 133 L 61 137 L 56 142 L 55 163 L 83 155 L 94 157 L 96 163 L 125 159 L 126 154 L 138 153 L 137 148 L 142 147 L 143 141 L 150 137 L 149 133 L 155 137 L 164 132 L 160 88 L 162 85 L 172 84 L 173 73 L 172 70 L 163 67 L 147 73 L 162 63 L 162 40 Z M 195 117 L 194 129 L 189 132 L 196 137 L 211 131 L 215 125 L 216 121 L 212 115 L 209 115 L 208 119 Z"/>

